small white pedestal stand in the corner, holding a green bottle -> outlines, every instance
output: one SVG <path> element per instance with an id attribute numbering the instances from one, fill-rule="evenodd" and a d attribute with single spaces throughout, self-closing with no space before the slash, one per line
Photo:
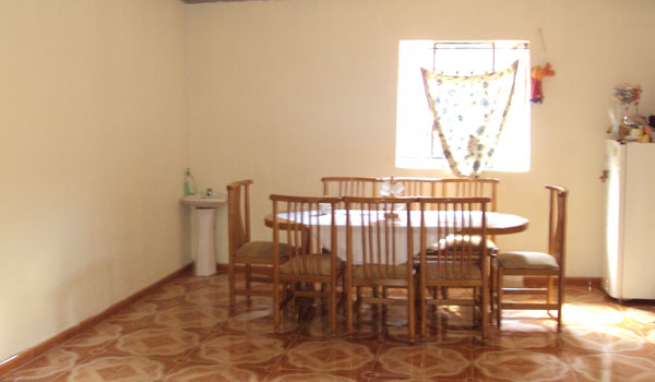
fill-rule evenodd
<path id="1" fill-rule="evenodd" d="M 224 193 L 212 196 L 184 196 L 181 203 L 193 207 L 198 219 L 198 253 L 195 253 L 195 275 L 211 276 L 216 273 L 216 210 L 227 203 Z"/>

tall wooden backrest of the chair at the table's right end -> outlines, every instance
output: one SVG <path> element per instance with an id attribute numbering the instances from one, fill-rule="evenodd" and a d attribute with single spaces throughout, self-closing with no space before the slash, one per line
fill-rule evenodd
<path id="1" fill-rule="evenodd" d="M 560 186 L 546 184 L 549 199 L 548 253 L 564 266 L 567 240 L 567 198 L 569 190 Z"/>

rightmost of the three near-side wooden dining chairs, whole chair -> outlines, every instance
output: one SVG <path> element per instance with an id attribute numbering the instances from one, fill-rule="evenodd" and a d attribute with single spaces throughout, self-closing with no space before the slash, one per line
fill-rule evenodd
<path id="1" fill-rule="evenodd" d="M 425 337 L 427 334 L 428 306 L 472 306 L 477 307 L 481 313 L 484 341 L 488 336 L 489 325 L 489 258 L 486 246 L 481 243 L 487 238 L 486 210 L 490 201 L 487 198 L 419 198 L 418 202 L 421 215 L 419 255 L 421 336 Z M 429 207 L 432 205 L 439 212 L 451 214 L 445 215 L 450 217 L 433 219 L 427 224 L 426 212 L 431 210 Z M 480 211 L 480 226 L 474 229 L 472 213 Z M 456 246 L 440 247 L 436 252 L 429 249 L 428 237 L 474 235 L 479 236 L 481 241 L 462 240 Z M 442 298 L 437 297 L 437 290 L 451 287 L 473 288 L 473 298 L 448 298 L 448 294 L 443 294 Z"/>

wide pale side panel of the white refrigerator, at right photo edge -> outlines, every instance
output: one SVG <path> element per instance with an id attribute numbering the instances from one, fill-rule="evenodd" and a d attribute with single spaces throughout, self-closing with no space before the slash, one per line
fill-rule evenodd
<path id="1" fill-rule="evenodd" d="M 655 299 L 655 144 L 626 145 L 623 299 Z"/>

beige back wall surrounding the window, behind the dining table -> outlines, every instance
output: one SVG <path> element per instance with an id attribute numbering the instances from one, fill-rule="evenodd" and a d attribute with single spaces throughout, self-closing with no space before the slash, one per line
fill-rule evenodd
<path id="1" fill-rule="evenodd" d="M 604 130 L 614 85 L 641 82 L 655 114 L 653 1 L 281 0 L 188 8 L 191 165 L 201 187 L 253 178 L 254 232 L 270 193 L 320 192 L 335 175 L 448 176 L 394 168 L 401 39 L 528 39 L 550 61 L 532 107 L 532 169 L 501 179 L 501 211 L 531 228 L 503 249 L 543 250 L 546 193 L 571 189 L 568 274 L 600 276 Z M 544 31 L 545 46 L 538 29 Z M 218 228 L 226 261 L 225 216 Z"/>

